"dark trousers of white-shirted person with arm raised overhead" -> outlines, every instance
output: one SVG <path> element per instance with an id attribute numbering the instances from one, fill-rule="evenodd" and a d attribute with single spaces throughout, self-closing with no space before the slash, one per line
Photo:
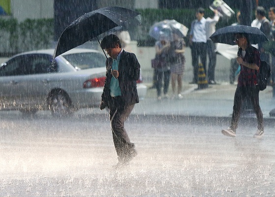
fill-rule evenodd
<path id="1" fill-rule="evenodd" d="M 213 80 L 215 81 L 215 68 L 216 68 L 216 45 L 212 40 L 207 40 L 206 42 L 207 53 L 208 53 L 208 81 Z M 206 72 L 206 70 L 204 70 Z"/>

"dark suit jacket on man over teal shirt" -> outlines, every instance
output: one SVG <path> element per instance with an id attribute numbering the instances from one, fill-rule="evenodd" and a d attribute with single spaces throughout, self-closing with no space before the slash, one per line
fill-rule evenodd
<path id="1" fill-rule="evenodd" d="M 112 59 L 108 59 L 110 64 Z M 110 80 L 111 71 L 108 61 L 106 61 L 106 81 L 104 84 L 104 90 L 102 94 L 102 101 L 104 107 L 110 108 Z M 138 91 L 137 91 L 137 80 L 139 79 L 140 65 L 138 59 L 134 53 L 122 51 L 119 64 L 118 64 L 118 83 L 121 90 L 121 103 L 120 105 L 132 105 L 138 103 Z"/>

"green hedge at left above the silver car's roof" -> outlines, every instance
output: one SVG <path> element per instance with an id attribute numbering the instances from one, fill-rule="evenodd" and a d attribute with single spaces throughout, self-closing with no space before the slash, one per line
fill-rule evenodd
<path id="1" fill-rule="evenodd" d="M 1 36 L 3 35 L 3 36 Z M 14 18 L 0 18 L 0 54 L 16 54 L 28 50 L 50 48 L 54 39 L 54 19 L 26 19 L 18 23 Z"/>

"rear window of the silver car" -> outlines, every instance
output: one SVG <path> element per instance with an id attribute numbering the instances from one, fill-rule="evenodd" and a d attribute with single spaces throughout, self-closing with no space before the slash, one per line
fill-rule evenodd
<path id="1" fill-rule="evenodd" d="M 106 57 L 98 52 L 66 54 L 63 57 L 76 69 L 105 67 Z"/>

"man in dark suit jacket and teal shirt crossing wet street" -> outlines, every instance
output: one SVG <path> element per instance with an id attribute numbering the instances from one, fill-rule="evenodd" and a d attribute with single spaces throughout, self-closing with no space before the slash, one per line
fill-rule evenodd
<path id="1" fill-rule="evenodd" d="M 138 103 L 137 80 L 140 65 L 133 53 L 121 48 L 119 38 L 110 34 L 103 38 L 101 47 L 110 58 L 106 62 L 106 81 L 100 109 L 109 108 L 109 118 L 114 147 L 118 156 L 115 167 L 128 164 L 137 155 L 135 145 L 130 142 L 124 129 L 124 121 Z"/>

